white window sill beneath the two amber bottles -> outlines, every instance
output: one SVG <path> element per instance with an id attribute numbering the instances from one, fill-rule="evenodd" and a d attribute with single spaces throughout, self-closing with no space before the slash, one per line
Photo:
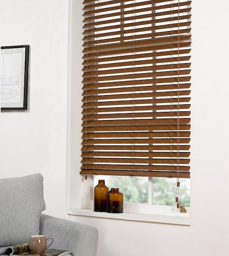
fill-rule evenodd
<path id="1" fill-rule="evenodd" d="M 69 215 L 88 216 L 97 218 L 122 219 L 132 221 L 158 222 L 177 225 L 190 225 L 188 213 L 149 214 L 149 213 L 106 213 L 94 212 L 92 209 L 68 209 Z"/>

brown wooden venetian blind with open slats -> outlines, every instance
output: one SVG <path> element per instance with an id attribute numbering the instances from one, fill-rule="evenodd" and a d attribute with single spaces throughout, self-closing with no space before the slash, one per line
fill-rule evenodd
<path id="1" fill-rule="evenodd" d="M 189 178 L 190 1 L 84 1 L 80 174 Z"/>

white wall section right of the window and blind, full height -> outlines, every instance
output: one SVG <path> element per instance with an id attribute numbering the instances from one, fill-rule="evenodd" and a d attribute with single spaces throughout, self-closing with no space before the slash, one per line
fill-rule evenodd
<path id="1" fill-rule="evenodd" d="M 191 256 L 228 255 L 228 1 L 192 1 Z"/>

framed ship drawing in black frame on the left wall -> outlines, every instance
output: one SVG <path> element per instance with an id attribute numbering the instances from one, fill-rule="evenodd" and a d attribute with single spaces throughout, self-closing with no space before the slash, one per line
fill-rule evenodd
<path id="1" fill-rule="evenodd" d="M 1 47 L 1 109 L 26 110 L 29 45 Z"/>

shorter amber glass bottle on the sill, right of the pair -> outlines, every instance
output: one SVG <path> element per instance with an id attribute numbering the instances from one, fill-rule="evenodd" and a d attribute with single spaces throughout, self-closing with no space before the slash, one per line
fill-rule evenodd
<path id="1" fill-rule="evenodd" d="M 118 188 L 111 188 L 107 193 L 107 212 L 123 212 L 123 193 Z"/>

